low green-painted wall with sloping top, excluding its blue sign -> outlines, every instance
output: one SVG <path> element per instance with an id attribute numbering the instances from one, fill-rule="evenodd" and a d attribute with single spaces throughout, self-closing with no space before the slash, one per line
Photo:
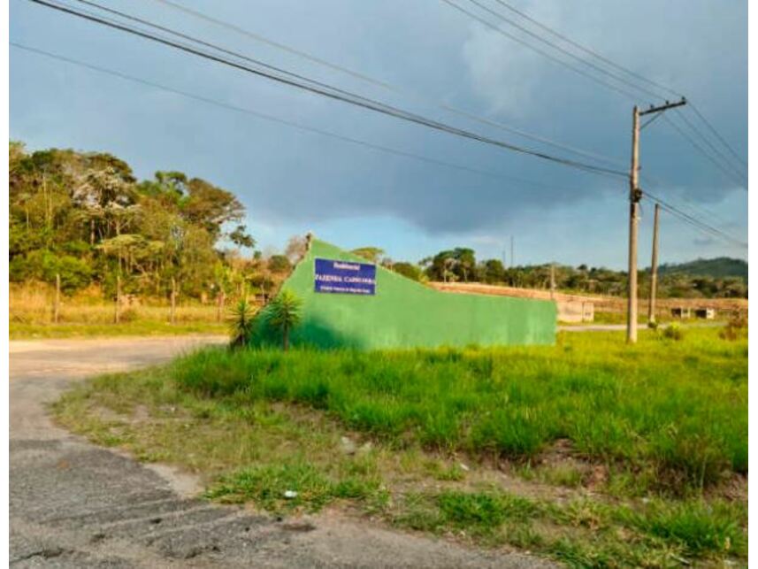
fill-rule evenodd
<path id="1" fill-rule="evenodd" d="M 282 285 L 302 299 L 302 323 L 290 336 L 293 346 L 372 350 L 555 342 L 552 301 L 440 292 L 381 266 L 375 296 L 317 293 L 314 258 L 365 263 L 328 243 L 311 242 Z M 264 308 L 256 317 L 252 345 L 281 342 L 267 319 Z"/>

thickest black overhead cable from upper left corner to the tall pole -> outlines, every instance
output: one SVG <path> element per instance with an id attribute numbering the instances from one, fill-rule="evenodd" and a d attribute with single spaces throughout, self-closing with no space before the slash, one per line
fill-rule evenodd
<path id="1" fill-rule="evenodd" d="M 571 160 L 569 158 L 555 157 L 555 156 L 549 155 L 549 154 L 547 154 L 545 152 L 541 152 L 541 151 L 538 151 L 538 150 L 527 149 L 527 148 L 518 146 L 516 144 L 512 144 L 510 142 L 503 142 L 503 141 L 500 141 L 500 140 L 496 140 L 496 139 L 493 139 L 493 138 L 486 137 L 484 135 L 479 135 L 477 133 L 473 133 L 471 131 L 464 130 L 463 128 L 452 127 L 452 126 L 449 126 L 449 125 L 447 125 L 445 123 L 441 123 L 441 122 L 439 122 L 437 120 L 427 119 L 427 118 L 425 118 L 425 117 L 423 117 L 421 115 L 417 115 L 417 114 L 412 113 L 410 111 L 403 111 L 402 109 L 398 109 L 398 108 L 395 108 L 395 107 L 387 105 L 387 104 L 382 104 L 380 102 L 374 101 L 374 100 L 369 99 L 367 97 L 357 96 L 357 95 L 354 95 L 354 94 L 349 94 L 348 96 L 345 96 L 344 95 L 345 92 L 337 92 L 338 89 L 336 89 L 336 88 L 322 88 L 322 87 L 320 87 L 318 85 L 315 85 L 315 84 L 303 83 L 302 81 L 298 81 L 295 78 L 283 77 L 281 75 L 276 75 L 276 74 L 273 74 L 273 73 L 270 73 L 270 72 L 267 72 L 267 71 L 264 71 L 264 70 L 261 70 L 261 69 L 256 69 L 255 67 L 250 67 L 248 65 L 242 65 L 239 62 L 231 61 L 229 59 L 223 58 L 223 57 L 218 56 L 216 54 L 208 53 L 206 51 L 199 50 L 199 49 L 196 49 L 194 47 L 190 47 L 188 45 L 183 45 L 181 43 L 174 42 L 172 40 L 168 40 L 165 37 L 161 37 L 161 36 L 158 36 L 158 35 L 150 34 L 149 32 L 146 32 L 146 31 L 141 30 L 139 28 L 129 27 L 129 26 L 127 26 L 124 23 L 114 22 L 114 21 L 111 21 L 111 20 L 108 20 L 108 19 L 103 19 L 101 17 L 95 16 L 95 15 L 92 15 L 92 14 L 88 14 L 88 13 L 85 13 L 85 12 L 80 12 L 80 11 L 77 11 L 77 10 L 71 8 L 71 7 L 68 7 L 68 6 L 59 5 L 59 4 L 52 4 L 52 3 L 47 2 L 45 0 L 29 0 L 29 1 L 30 2 L 34 2 L 34 4 L 40 4 L 42 6 L 51 8 L 53 10 L 57 10 L 58 12 L 65 12 L 65 13 L 71 14 L 73 16 L 77 16 L 77 17 L 79 17 L 81 19 L 87 19 L 89 21 L 95 22 L 97 24 L 101 24 L 101 25 L 106 26 L 106 27 L 112 27 L 114 29 L 119 29 L 121 31 L 126 32 L 127 34 L 137 35 L 137 36 L 140 36 L 142 38 L 148 39 L 148 40 L 153 41 L 153 42 L 162 43 L 162 44 L 164 44 L 166 46 L 169 46 L 169 47 L 175 48 L 177 50 L 181 50 L 181 51 L 187 52 L 189 54 L 198 56 L 200 58 L 205 58 L 205 59 L 208 59 L 208 60 L 211 60 L 211 61 L 223 64 L 223 65 L 228 65 L 230 67 L 234 67 L 235 69 L 239 69 L 239 70 L 247 72 L 247 73 L 253 73 L 253 74 L 257 75 L 257 76 L 265 77 L 267 79 L 271 79 L 272 81 L 278 81 L 279 83 L 282 83 L 282 84 L 285 84 L 285 85 L 288 85 L 288 86 L 292 86 L 292 87 L 301 88 L 303 90 L 310 91 L 311 93 L 315 93 L 315 94 L 318 94 L 318 95 L 327 96 L 327 97 L 332 98 L 334 100 L 339 100 L 339 101 L 342 101 L 342 102 L 345 102 L 345 103 L 348 103 L 348 104 L 353 104 L 353 105 L 356 105 L 356 106 L 359 106 L 359 107 L 363 107 L 363 108 L 371 110 L 371 111 L 376 111 L 376 112 L 379 112 L 379 113 L 382 113 L 382 114 L 385 114 L 385 115 L 388 115 L 388 116 L 393 116 L 393 117 L 398 118 L 398 119 L 404 119 L 404 120 L 407 120 L 409 122 L 416 123 L 418 125 L 422 125 L 422 126 L 425 126 L 425 127 L 432 128 L 434 130 L 438 130 L 440 132 L 445 132 L 445 133 L 448 133 L 448 134 L 451 134 L 451 135 L 460 136 L 462 138 L 468 138 L 470 140 L 474 140 L 474 141 L 478 141 L 478 142 L 483 142 L 483 143 L 486 143 L 486 144 L 490 144 L 490 145 L 493 145 L 493 146 L 500 147 L 500 148 L 505 149 L 505 150 L 511 150 L 511 151 L 519 152 L 519 153 L 522 153 L 522 154 L 533 156 L 535 158 L 541 158 L 541 159 L 553 162 L 555 164 L 567 165 L 567 166 L 570 166 L 570 167 L 573 167 L 573 168 L 576 168 L 576 169 L 585 170 L 587 172 L 598 173 L 598 174 L 602 174 L 602 175 L 610 175 L 610 176 L 615 176 L 615 177 L 616 176 L 620 176 L 620 177 L 625 177 L 626 176 L 625 173 L 617 171 L 617 170 L 611 170 L 609 168 L 603 168 L 601 166 L 596 166 L 596 165 L 588 165 L 588 164 L 585 164 L 585 163 L 582 163 L 582 162 L 578 162 L 576 160 Z M 266 67 L 273 68 L 272 65 L 266 65 Z M 274 68 L 274 69 L 277 69 L 277 68 Z M 280 73 L 286 73 L 287 75 L 290 75 L 290 76 L 292 75 L 292 73 L 288 73 L 285 70 L 279 70 L 279 72 Z M 312 80 L 308 80 L 308 81 L 311 81 L 311 83 L 315 83 L 315 81 L 312 81 Z"/>

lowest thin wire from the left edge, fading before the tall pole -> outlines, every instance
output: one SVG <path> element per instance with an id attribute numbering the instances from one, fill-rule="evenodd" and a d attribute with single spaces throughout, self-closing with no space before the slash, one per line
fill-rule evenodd
<path id="1" fill-rule="evenodd" d="M 81 61 L 79 59 L 68 58 L 68 57 L 65 57 L 65 56 L 62 56 L 62 55 L 58 55 L 58 54 L 52 53 L 50 51 L 40 50 L 40 49 L 33 48 L 33 47 L 30 47 L 30 46 L 27 46 L 27 45 L 23 45 L 23 44 L 20 44 L 20 43 L 17 43 L 17 42 L 9 42 L 9 43 L 10 43 L 11 46 L 13 46 L 15 48 L 19 48 L 20 50 L 26 50 L 26 51 L 35 53 L 37 55 L 42 55 L 42 56 L 44 56 L 46 58 L 56 59 L 57 61 L 63 61 L 65 63 L 71 64 L 71 65 L 78 65 L 78 66 L 86 68 L 86 69 L 88 69 L 90 71 L 95 71 L 97 73 L 104 73 L 104 74 L 107 74 L 107 75 L 111 75 L 113 77 L 118 77 L 119 79 L 122 79 L 122 80 L 132 81 L 134 83 L 146 85 L 146 86 L 151 87 L 151 88 L 157 88 L 157 89 L 166 91 L 168 93 L 172 93 L 174 95 L 184 96 L 184 97 L 187 97 L 187 98 L 195 100 L 195 101 L 199 101 L 199 102 L 204 103 L 204 104 L 212 104 L 214 106 L 218 106 L 219 108 L 223 108 L 223 109 L 226 109 L 226 110 L 229 110 L 229 111 L 235 111 L 235 112 L 240 112 L 240 113 L 243 113 L 243 114 L 248 114 L 250 116 L 256 117 L 257 119 L 264 119 L 264 120 L 267 120 L 267 121 L 270 121 L 270 122 L 274 122 L 274 123 L 278 123 L 278 124 L 281 124 L 281 125 L 285 125 L 287 127 L 293 127 L 293 128 L 305 131 L 305 132 L 310 132 L 310 133 L 314 133 L 314 134 L 318 134 L 318 135 L 328 136 L 330 138 L 334 138 L 334 139 L 340 140 L 342 142 L 350 142 L 350 143 L 353 143 L 353 144 L 357 144 L 359 146 L 364 146 L 366 148 L 370 148 L 372 150 L 379 150 L 381 152 L 386 152 L 388 154 L 394 154 L 395 156 L 401 156 L 401 157 L 404 157 L 404 158 L 412 158 L 412 159 L 419 160 L 419 161 L 422 161 L 422 162 L 425 162 L 425 163 L 428 163 L 428 164 L 440 165 L 440 166 L 452 168 L 452 169 L 455 169 L 455 170 L 461 170 L 461 171 L 464 171 L 464 172 L 476 173 L 476 174 L 479 174 L 479 175 L 482 175 L 482 176 L 487 176 L 487 177 L 490 177 L 490 178 L 496 178 L 496 179 L 501 179 L 501 180 L 506 180 L 506 181 L 516 181 L 516 182 L 519 182 L 519 183 L 523 183 L 523 184 L 531 185 L 531 186 L 535 186 L 535 187 L 555 188 L 555 186 L 544 184 L 544 183 L 541 183 L 541 182 L 538 182 L 538 181 L 526 180 L 524 178 L 518 178 L 516 176 L 508 176 L 508 175 L 501 174 L 501 173 L 488 172 L 486 170 L 479 170 L 478 168 L 472 168 L 472 167 L 466 166 L 466 165 L 459 165 L 459 164 L 455 164 L 455 163 L 448 162 L 448 161 L 445 161 L 445 160 L 440 160 L 438 158 L 426 157 L 426 156 L 423 156 L 423 155 L 420 155 L 420 154 L 416 154 L 416 153 L 413 153 L 413 152 L 408 152 L 406 150 L 397 150 L 397 149 L 390 148 L 390 147 L 387 147 L 387 146 L 382 146 L 380 144 L 375 144 L 373 142 L 366 142 L 364 140 L 360 140 L 360 139 L 357 139 L 357 138 L 352 138 L 350 136 L 338 135 L 336 133 L 333 133 L 333 132 L 330 132 L 330 131 L 327 131 L 327 130 L 323 130 L 321 128 L 308 127 L 308 126 L 299 124 L 299 123 L 291 121 L 291 120 L 280 119 L 279 117 L 275 117 L 273 115 L 265 114 L 263 112 L 252 111 L 250 109 L 247 109 L 247 108 L 244 108 L 244 107 L 239 107 L 239 106 L 236 106 L 234 104 L 223 103 L 221 101 L 217 101 L 215 99 L 211 99 L 211 98 L 206 97 L 206 96 L 195 95 L 193 93 L 189 93 L 188 91 L 183 91 L 183 90 L 178 89 L 178 88 L 168 87 L 168 86 L 163 85 L 161 83 L 156 83 L 154 81 L 144 80 L 144 79 L 141 79 L 139 77 L 135 77 L 134 75 L 129 75 L 129 74 L 126 74 L 126 73 L 121 73 L 121 72 L 118 72 L 118 71 L 113 71 L 112 69 L 108 69 L 108 68 L 101 67 L 101 66 L 98 66 L 98 65 L 88 64 L 88 63 L 86 63 L 84 61 Z M 567 190 L 567 191 L 574 191 L 574 192 L 576 192 L 576 191 L 578 191 L 578 189 L 570 189 L 570 190 Z"/>

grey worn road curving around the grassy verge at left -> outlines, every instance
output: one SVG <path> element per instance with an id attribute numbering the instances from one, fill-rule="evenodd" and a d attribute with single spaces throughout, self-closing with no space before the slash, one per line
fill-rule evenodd
<path id="1" fill-rule="evenodd" d="M 277 521 L 190 496 L 195 483 L 54 427 L 45 411 L 94 373 L 165 361 L 218 337 L 11 342 L 11 565 L 542 567 L 328 516 Z"/>

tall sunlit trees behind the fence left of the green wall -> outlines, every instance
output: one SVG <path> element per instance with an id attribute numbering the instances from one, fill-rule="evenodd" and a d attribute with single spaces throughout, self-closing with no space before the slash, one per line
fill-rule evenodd
<path id="1" fill-rule="evenodd" d="M 185 173 L 140 181 L 108 153 L 11 142 L 9 179 L 11 282 L 59 275 L 65 293 L 96 284 L 112 295 L 119 278 L 125 294 L 169 296 L 173 281 L 199 298 L 265 293 L 291 266 L 254 250 L 234 194 Z"/>

